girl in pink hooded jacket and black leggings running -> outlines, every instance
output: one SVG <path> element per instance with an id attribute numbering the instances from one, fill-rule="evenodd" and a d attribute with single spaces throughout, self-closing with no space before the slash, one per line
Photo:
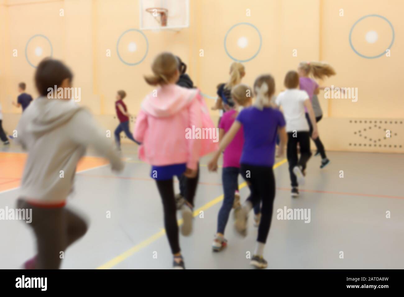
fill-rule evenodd
<path id="1" fill-rule="evenodd" d="M 156 180 L 164 208 L 164 226 L 174 255 L 173 268 L 185 269 L 179 247 L 173 177 L 184 174 L 196 177 L 197 164 L 203 150 L 202 139 L 189 137 L 189 129 L 202 126 L 200 93 L 197 89 L 177 86 L 178 60 L 171 53 L 156 57 L 151 69 L 152 76 L 145 76 L 148 84 L 159 86 L 141 104 L 133 137 L 141 142 L 139 157 L 151 164 L 150 176 Z M 187 179 L 189 180 L 189 179 Z M 196 187 L 195 183 L 187 187 Z M 187 191 L 182 206 L 181 233 L 192 230 L 195 189 Z"/>

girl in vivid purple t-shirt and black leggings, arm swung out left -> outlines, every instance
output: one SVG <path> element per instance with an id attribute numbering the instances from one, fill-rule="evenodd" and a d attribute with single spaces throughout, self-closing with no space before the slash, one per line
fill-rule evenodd
<path id="1" fill-rule="evenodd" d="M 251 265 L 256 268 L 267 267 L 263 252 L 271 225 L 275 198 L 275 178 L 272 166 L 275 159 L 276 133 L 279 133 L 280 136 L 278 157 L 283 155 L 287 141 L 283 115 L 279 110 L 270 107 L 270 99 L 274 92 L 275 80 L 271 75 L 261 75 L 255 80 L 255 103 L 251 107 L 244 108 L 238 114 L 221 141 L 219 150 L 208 164 L 210 171 L 217 170 L 217 160 L 221 152 L 231 143 L 240 128 L 243 128 L 244 146 L 240 159 L 240 173 L 246 180 L 251 194 L 237 213 L 235 227 L 238 232 L 245 234 L 248 213 L 252 207 L 262 202 L 257 246 L 251 259 Z"/>

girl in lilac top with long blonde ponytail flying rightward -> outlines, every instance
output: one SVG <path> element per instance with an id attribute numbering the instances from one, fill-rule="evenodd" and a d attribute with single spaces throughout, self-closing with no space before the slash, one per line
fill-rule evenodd
<path id="1" fill-rule="evenodd" d="M 318 95 L 318 93 L 320 93 L 320 87 L 318 86 L 317 82 L 314 79 L 310 78 L 310 76 L 313 76 L 314 78 L 323 79 L 325 77 L 330 77 L 336 74 L 335 70 L 330 65 L 322 62 L 300 62 L 297 71 L 300 77 L 299 78 L 300 89 L 307 92 L 307 94 L 310 97 L 310 101 L 313 100 L 314 95 Z M 316 122 L 320 121 L 321 118 L 322 117 L 317 117 Z M 309 114 L 307 113 L 307 108 L 306 108 L 306 119 L 307 122 L 309 123 L 310 135 L 312 135 L 313 124 L 311 123 Z M 321 154 L 322 160 L 320 168 L 324 168 L 330 163 L 330 160 L 328 160 L 326 156 L 324 145 L 321 142 L 320 137 L 314 138 L 311 136 L 311 138 L 316 144 L 317 152 Z"/>

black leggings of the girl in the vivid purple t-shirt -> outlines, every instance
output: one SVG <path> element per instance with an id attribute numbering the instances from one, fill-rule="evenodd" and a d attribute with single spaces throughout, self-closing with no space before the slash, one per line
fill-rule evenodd
<path id="1" fill-rule="evenodd" d="M 251 193 L 247 200 L 252 203 L 253 207 L 262 202 L 257 241 L 265 243 L 271 227 L 272 210 L 274 208 L 274 171 L 272 166 L 241 164 L 240 173 L 250 188 Z"/>

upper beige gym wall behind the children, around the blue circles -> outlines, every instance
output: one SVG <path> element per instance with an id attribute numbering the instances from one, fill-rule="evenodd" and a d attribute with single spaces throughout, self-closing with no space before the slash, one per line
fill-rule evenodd
<path id="1" fill-rule="evenodd" d="M 404 118 L 401 80 L 404 68 L 400 0 L 191 0 L 190 27 L 180 32 L 145 31 L 149 52 L 143 63 L 128 66 L 118 59 L 116 42 L 126 29 L 139 28 L 137 0 L 0 0 L 0 102 L 3 112 L 16 120 L 20 110 L 11 105 L 17 97 L 17 84 L 25 81 L 28 92 L 35 94 L 34 68 L 25 60 L 27 40 L 44 34 L 52 41 L 53 56 L 63 59 L 74 74 L 74 84 L 82 89 L 80 104 L 90 107 L 96 115 L 114 115 L 114 97 L 118 89 L 128 93 L 126 103 L 137 114 L 142 98 L 152 88 L 143 75 L 150 72 L 153 57 L 161 51 L 172 51 L 188 64 L 188 72 L 202 92 L 215 96 L 216 85 L 227 80 L 231 59 L 223 48 L 227 30 L 239 22 L 254 24 L 262 35 L 259 55 L 246 62 L 244 82 L 252 84 L 262 73 L 272 73 L 277 91 L 281 91 L 284 74 L 296 69 L 302 60 L 324 60 L 333 65 L 337 76 L 324 85 L 357 87 L 358 102 L 324 99 L 320 103 L 328 119 L 320 122 L 329 150 L 352 150 L 347 141 L 328 137 L 330 131 L 349 131 L 349 119 Z M 64 16 L 59 16 L 59 9 Z M 339 16 L 339 10 L 344 16 Z M 246 9 L 250 16 L 246 16 Z M 387 17 L 395 29 L 391 57 L 364 59 L 349 46 L 348 35 L 353 23 L 363 15 Z M 378 25 L 376 22 L 375 25 Z M 378 28 L 375 28 L 378 29 Z M 381 26 L 379 38 L 388 43 L 389 28 Z M 251 34 L 250 31 L 240 31 Z M 248 36 L 247 36 L 248 37 Z M 248 48 L 255 51 L 258 38 L 249 38 Z M 366 47 L 358 41 L 360 46 Z M 387 46 L 387 45 L 386 45 Z M 248 51 L 247 48 L 247 51 Z M 18 57 L 13 57 L 13 49 Z M 106 56 L 107 49 L 111 57 Z M 139 55 L 144 53 L 139 39 Z M 200 49 L 204 57 L 200 57 Z M 297 57 L 292 51 L 297 50 Z M 242 54 L 236 47 L 232 53 Z M 122 48 L 122 55 L 126 55 Z M 209 105 L 213 100 L 206 99 Z M 215 112 L 212 116 L 217 117 Z M 9 116 L 7 117 L 11 119 Z M 102 119 L 103 117 L 100 117 Z M 104 117 L 105 118 L 105 117 Z M 16 120 L 9 120 L 15 122 Z M 335 120 L 337 122 L 335 122 Z M 102 120 L 101 120 L 102 121 Z M 113 121 L 113 119 L 111 120 Z M 335 126 L 336 123 L 342 127 Z M 349 121 L 348 121 L 349 123 Z M 9 125 L 9 126 L 8 126 Z M 109 126 L 110 124 L 108 124 Z M 4 121 L 11 130 L 11 124 Z M 345 127 L 345 126 L 344 126 Z M 389 128 L 389 127 L 387 127 Z M 325 133 L 328 133 L 325 136 Z M 337 133 L 338 134 L 338 133 Z M 338 134 L 339 135 L 339 134 Z M 376 151 L 382 151 L 379 147 Z"/>

